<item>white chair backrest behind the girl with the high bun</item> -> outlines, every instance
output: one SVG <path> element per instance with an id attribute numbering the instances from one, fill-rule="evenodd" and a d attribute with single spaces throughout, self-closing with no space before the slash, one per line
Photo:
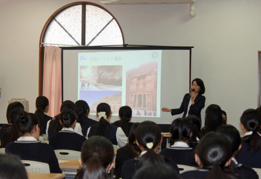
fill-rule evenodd
<path id="1" fill-rule="evenodd" d="M 50 173 L 50 167 L 47 163 L 31 160 L 21 160 L 21 162 L 25 165 L 25 169 L 27 172 Z"/>

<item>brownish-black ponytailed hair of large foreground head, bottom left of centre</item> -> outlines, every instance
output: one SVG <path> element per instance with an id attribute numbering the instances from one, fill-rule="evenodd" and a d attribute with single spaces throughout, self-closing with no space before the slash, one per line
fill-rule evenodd
<path id="1" fill-rule="evenodd" d="M 81 159 L 83 168 L 75 179 L 109 179 L 107 168 L 113 161 L 114 150 L 109 139 L 93 136 L 83 143 Z"/>

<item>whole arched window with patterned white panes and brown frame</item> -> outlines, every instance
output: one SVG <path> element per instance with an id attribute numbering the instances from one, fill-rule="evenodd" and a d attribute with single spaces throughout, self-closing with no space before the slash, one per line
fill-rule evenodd
<path id="1" fill-rule="evenodd" d="M 39 95 L 42 94 L 44 46 L 122 45 L 118 21 L 102 6 L 74 2 L 54 12 L 45 23 L 39 48 Z"/>

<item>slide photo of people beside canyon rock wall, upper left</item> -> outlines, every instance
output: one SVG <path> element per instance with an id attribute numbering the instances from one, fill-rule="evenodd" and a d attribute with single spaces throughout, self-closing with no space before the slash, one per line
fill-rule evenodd
<path id="1" fill-rule="evenodd" d="M 122 65 L 80 66 L 80 90 L 121 91 Z"/>

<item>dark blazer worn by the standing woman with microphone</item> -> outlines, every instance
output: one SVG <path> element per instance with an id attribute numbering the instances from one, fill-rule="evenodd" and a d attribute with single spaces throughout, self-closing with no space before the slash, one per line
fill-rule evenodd
<path id="1" fill-rule="evenodd" d="M 182 117 L 186 117 L 189 100 L 191 100 L 190 98 L 188 99 L 189 96 L 190 96 L 189 93 L 185 94 L 180 107 L 177 109 L 171 109 L 171 115 L 177 115 L 184 112 Z M 206 101 L 205 96 L 198 94 L 197 97 L 194 99 L 195 103 L 189 107 L 188 115 L 197 116 L 201 122 L 201 110 L 205 107 L 205 101 Z"/>

